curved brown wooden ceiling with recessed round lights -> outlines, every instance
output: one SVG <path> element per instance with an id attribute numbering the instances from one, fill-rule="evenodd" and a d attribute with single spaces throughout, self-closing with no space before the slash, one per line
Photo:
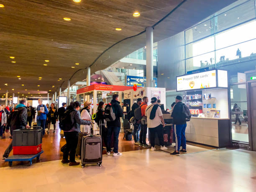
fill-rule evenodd
<path id="1" fill-rule="evenodd" d="M 154 41 L 184 31 L 234 1 L 184 1 L 181 7 L 155 27 Z M 61 84 L 63 90 L 77 69 L 90 66 L 102 51 L 121 39 L 138 34 L 147 26 L 153 26 L 181 2 L 0 0 L 5 5 L 0 8 L 0 93 L 8 90 L 10 94 L 23 92 L 26 96 L 28 92 L 34 91 L 45 96 L 49 90 L 55 92 Z M 136 10 L 141 13 L 138 18 L 132 15 Z M 66 21 L 64 17 L 71 20 Z M 115 31 L 115 28 L 122 28 L 122 31 Z M 145 42 L 145 34 L 123 41 L 103 54 L 92 66 L 91 72 L 105 69 L 144 46 Z M 15 59 L 10 59 L 10 56 L 15 56 Z M 38 80 L 38 77 L 42 77 L 42 80 Z M 85 77 L 86 70 L 81 70 L 71 79 L 71 84 Z"/>

